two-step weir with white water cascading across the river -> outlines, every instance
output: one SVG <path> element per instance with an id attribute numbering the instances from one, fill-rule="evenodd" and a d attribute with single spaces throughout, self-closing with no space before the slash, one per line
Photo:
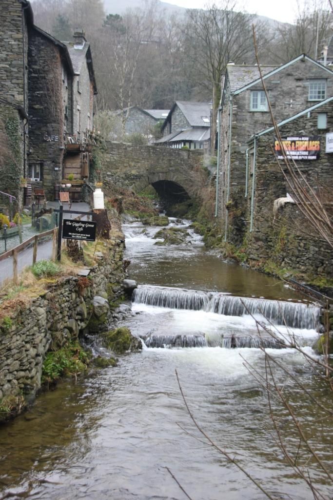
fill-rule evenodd
<path id="1" fill-rule="evenodd" d="M 270 335 L 267 322 L 278 325 L 277 330 L 289 337 L 287 328 L 315 330 L 319 325 L 320 308 L 313 304 L 232 296 L 217 292 L 205 292 L 165 286 L 140 285 L 133 291 L 136 304 L 153 305 L 167 309 L 159 333 L 143 333 L 147 347 L 256 347 L 281 349 L 285 341 L 272 328 Z M 189 312 L 187 315 L 186 311 Z M 259 321 L 266 323 L 258 331 L 250 315 L 260 315 Z M 178 323 L 172 323 L 176 315 Z M 214 316 L 214 317 L 213 317 Z M 225 319 L 223 316 L 226 316 Z M 237 317 L 238 316 L 238 317 Z M 235 317 L 235 319 L 234 319 Z M 169 322 L 170 318 L 170 324 Z M 218 319 L 219 318 L 219 319 Z M 181 326 L 179 326 L 179 324 Z M 183 328 L 186 333 L 179 333 Z M 170 332 L 170 333 L 169 333 Z M 302 343 L 303 333 L 296 331 Z"/>

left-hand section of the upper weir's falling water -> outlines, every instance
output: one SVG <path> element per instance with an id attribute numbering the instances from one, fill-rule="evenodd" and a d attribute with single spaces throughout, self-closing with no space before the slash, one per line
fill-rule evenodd
<path id="1" fill-rule="evenodd" d="M 171 309 L 200 310 L 208 305 L 209 296 L 204 291 L 139 286 L 133 291 L 132 301 Z"/>

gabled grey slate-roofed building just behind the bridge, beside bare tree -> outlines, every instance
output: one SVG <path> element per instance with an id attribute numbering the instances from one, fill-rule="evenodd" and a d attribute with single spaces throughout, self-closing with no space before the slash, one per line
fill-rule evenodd
<path id="1" fill-rule="evenodd" d="M 209 102 L 176 101 L 162 126 L 163 137 L 155 144 L 202 149 L 210 141 Z"/>

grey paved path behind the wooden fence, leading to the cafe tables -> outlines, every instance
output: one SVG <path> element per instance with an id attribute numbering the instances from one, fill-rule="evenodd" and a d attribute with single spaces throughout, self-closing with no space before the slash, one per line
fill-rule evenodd
<path id="1" fill-rule="evenodd" d="M 47 207 L 49 208 L 59 208 L 59 203 L 57 201 L 48 201 Z M 67 203 L 64 204 L 64 209 L 68 209 Z M 90 210 L 90 206 L 88 203 L 72 203 L 71 210 L 80 210 L 83 212 L 88 212 Z M 77 213 L 64 213 L 64 218 L 75 218 L 77 217 Z M 86 220 L 86 215 L 82 216 L 82 220 Z M 23 233 L 24 234 L 24 233 Z M 28 234 L 28 239 L 31 236 L 31 233 Z M 24 238 L 23 238 L 24 241 Z M 31 247 L 22 250 L 17 255 L 17 270 L 18 273 L 23 270 L 24 267 L 32 264 L 32 254 L 33 254 L 33 243 L 31 243 Z M 41 242 L 38 244 L 37 249 L 37 261 L 38 260 L 49 260 L 52 257 L 52 239 L 49 241 Z M 0 285 L 1 283 L 8 278 L 11 278 L 13 275 L 12 271 L 12 257 L 8 257 L 5 260 L 0 261 Z"/>

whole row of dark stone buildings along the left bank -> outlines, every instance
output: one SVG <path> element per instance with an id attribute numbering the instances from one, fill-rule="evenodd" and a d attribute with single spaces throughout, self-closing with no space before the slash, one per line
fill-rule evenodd
<path id="1" fill-rule="evenodd" d="M 96 92 L 82 32 L 74 33 L 74 42 L 62 43 L 33 24 L 28 1 L 1 0 L 0 136 L 6 139 L 0 147 L 6 157 L 0 191 L 15 196 L 17 207 L 23 179 L 32 194 L 42 188 L 53 199 L 69 173 L 81 182 L 89 177 Z M 73 191 L 74 197 L 80 187 Z"/>

